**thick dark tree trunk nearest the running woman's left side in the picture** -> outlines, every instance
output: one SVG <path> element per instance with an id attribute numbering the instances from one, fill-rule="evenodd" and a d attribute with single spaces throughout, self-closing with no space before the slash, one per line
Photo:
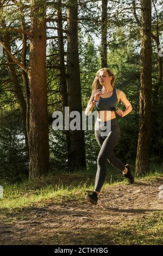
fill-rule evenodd
<path id="1" fill-rule="evenodd" d="M 67 89 L 70 112 L 80 113 L 80 130 L 70 130 L 70 169 L 86 167 L 85 141 L 82 130 L 82 95 L 80 86 L 79 56 L 78 56 L 78 1 L 68 2 L 67 10 Z"/>

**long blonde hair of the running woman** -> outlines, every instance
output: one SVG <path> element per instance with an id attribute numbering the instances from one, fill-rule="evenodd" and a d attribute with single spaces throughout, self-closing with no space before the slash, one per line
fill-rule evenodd
<path id="1" fill-rule="evenodd" d="M 92 83 L 92 92 L 94 92 L 95 90 L 99 90 L 102 86 L 101 84 L 99 83 L 99 72 L 101 71 L 107 71 L 108 72 L 108 75 L 109 76 L 112 76 L 112 80 L 111 80 L 111 86 L 112 88 L 114 88 L 114 84 L 115 84 L 115 79 L 116 79 L 116 76 L 114 74 L 114 72 L 109 69 L 109 68 L 102 68 L 102 69 L 99 69 L 97 72 L 96 72 L 96 77 Z"/>

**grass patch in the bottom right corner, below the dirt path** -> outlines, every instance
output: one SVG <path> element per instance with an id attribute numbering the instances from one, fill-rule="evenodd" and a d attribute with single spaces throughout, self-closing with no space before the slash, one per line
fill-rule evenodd
<path id="1" fill-rule="evenodd" d="M 142 217 L 114 226 L 111 239 L 116 245 L 162 245 L 162 225 L 163 213 L 155 212 L 148 218 Z"/>

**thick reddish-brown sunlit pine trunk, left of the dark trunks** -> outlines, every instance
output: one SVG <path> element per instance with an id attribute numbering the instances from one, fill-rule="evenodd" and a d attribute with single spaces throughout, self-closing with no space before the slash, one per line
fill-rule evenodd
<path id="1" fill-rule="evenodd" d="M 29 178 L 48 172 L 49 141 L 46 82 L 46 1 L 31 0 Z"/>

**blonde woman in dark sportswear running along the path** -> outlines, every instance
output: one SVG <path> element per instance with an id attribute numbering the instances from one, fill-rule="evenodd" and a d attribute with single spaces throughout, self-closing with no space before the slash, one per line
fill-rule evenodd
<path id="1" fill-rule="evenodd" d="M 85 114 L 89 115 L 96 105 L 98 115 L 95 124 L 95 137 L 101 148 L 97 157 L 97 173 L 95 180 L 95 190 L 87 191 L 86 199 L 92 204 L 97 204 L 99 192 L 105 181 L 106 161 L 121 170 L 124 177 L 128 178 L 130 184 L 134 183 L 129 164 L 124 165 L 114 154 L 114 148 L 120 138 L 120 128 L 116 120 L 115 112 L 120 117 L 125 117 L 132 111 L 131 103 L 126 95 L 114 88 L 115 75 L 109 68 L 97 71 L 92 84 L 92 95 L 87 104 Z M 122 101 L 126 109 L 122 111 L 117 108 L 118 102 Z M 107 129 L 110 127 L 110 129 Z M 105 132 L 104 132 L 105 131 Z"/>

